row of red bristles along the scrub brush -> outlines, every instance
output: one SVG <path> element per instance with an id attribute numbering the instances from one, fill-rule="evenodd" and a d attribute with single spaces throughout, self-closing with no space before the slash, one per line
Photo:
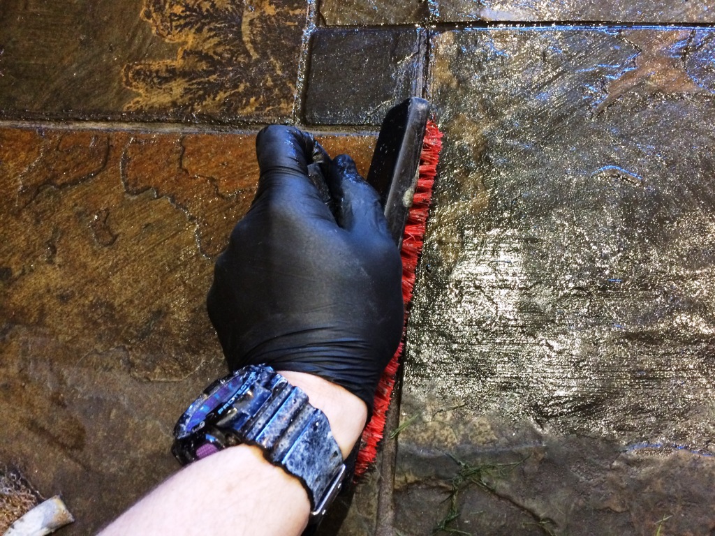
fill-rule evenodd
<path id="1" fill-rule="evenodd" d="M 405 302 L 405 328 L 403 328 L 403 341 L 395 352 L 388 366 L 385 367 L 380 378 L 378 389 L 375 392 L 375 407 L 373 417 L 363 431 L 362 445 L 358 452 L 358 461 L 355 464 L 355 477 L 363 475 L 368 467 L 375 462 L 378 454 L 378 443 L 385 432 L 385 414 L 390 407 L 390 398 L 395 387 L 395 375 L 400 367 L 400 357 L 405 347 L 405 329 L 407 327 L 409 307 L 415 288 L 415 275 L 417 264 L 422 252 L 425 226 L 429 215 L 432 187 L 437 174 L 437 163 L 442 149 L 442 133 L 434 121 L 427 122 L 425 138 L 420 154 L 420 176 L 415 188 L 415 197 L 408 214 L 403 245 L 400 254 L 403 259 L 403 300 Z"/>

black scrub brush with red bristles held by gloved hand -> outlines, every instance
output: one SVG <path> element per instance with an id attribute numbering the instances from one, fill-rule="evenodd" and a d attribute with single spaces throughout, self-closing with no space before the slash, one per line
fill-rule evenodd
<path id="1" fill-rule="evenodd" d="M 373 417 L 363 431 L 355 464 L 356 477 L 368 470 L 377 456 L 404 349 L 408 306 L 415 286 L 415 272 L 442 148 L 442 133 L 429 119 L 429 114 L 428 101 L 417 97 L 390 109 L 380 127 L 368 172 L 368 182 L 380 193 L 390 234 L 402 256 L 405 327 L 400 346 L 385 367 L 375 391 Z"/>

